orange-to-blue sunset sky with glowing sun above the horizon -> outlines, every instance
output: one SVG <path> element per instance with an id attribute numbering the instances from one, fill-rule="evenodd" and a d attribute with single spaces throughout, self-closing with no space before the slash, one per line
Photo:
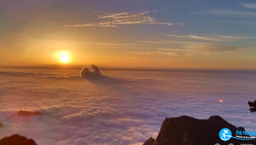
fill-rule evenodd
<path id="1" fill-rule="evenodd" d="M 0 66 L 256 69 L 254 0 L 0 0 Z"/>

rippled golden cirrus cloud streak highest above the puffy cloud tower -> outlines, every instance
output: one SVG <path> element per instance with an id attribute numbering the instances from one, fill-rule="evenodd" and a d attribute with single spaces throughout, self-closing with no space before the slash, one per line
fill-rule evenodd
<path id="1" fill-rule="evenodd" d="M 99 19 L 104 19 L 100 22 L 91 24 L 75 24 L 64 25 L 66 27 L 83 27 L 83 26 L 100 26 L 100 27 L 120 27 L 121 24 L 165 24 L 173 25 L 173 23 L 158 22 L 156 18 L 147 15 L 148 11 L 143 12 L 121 12 L 121 13 L 105 13 L 103 16 L 98 16 Z M 183 25 L 178 23 L 179 25 Z"/>

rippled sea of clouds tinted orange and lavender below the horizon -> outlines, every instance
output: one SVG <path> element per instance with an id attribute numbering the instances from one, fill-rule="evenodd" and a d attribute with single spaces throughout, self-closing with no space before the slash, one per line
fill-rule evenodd
<path id="1" fill-rule="evenodd" d="M 157 137 L 166 117 L 180 115 L 220 115 L 256 131 L 256 114 L 247 104 L 256 99 L 255 72 L 101 71 L 81 77 L 2 71 L 0 80 L 0 138 L 19 133 L 38 145 L 142 145 Z M 19 110 L 42 115 L 18 116 Z"/>

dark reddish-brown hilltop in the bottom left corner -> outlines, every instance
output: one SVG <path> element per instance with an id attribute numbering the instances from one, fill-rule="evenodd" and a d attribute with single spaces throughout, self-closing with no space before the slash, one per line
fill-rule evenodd
<path id="1" fill-rule="evenodd" d="M 33 139 L 14 134 L 0 139 L 0 145 L 37 145 L 37 143 Z"/>

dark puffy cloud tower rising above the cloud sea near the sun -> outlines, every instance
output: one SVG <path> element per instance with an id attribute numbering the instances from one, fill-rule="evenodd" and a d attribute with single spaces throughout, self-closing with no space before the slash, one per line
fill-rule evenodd
<path id="1" fill-rule="evenodd" d="M 98 66 L 95 66 L 92 64 L 91 66 L 86 66 L 82 68 L 82 71 L 80 72 L 81 77 L 99 77 L 101 76 L 101 71 Z"/>

